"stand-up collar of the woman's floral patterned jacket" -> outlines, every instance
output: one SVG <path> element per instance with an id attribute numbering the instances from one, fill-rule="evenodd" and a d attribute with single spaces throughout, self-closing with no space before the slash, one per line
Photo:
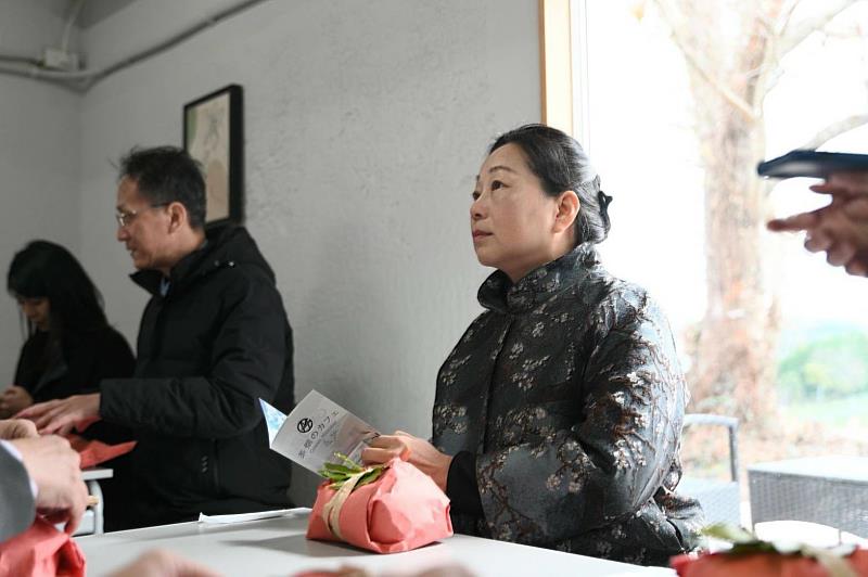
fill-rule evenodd
<path id="1" fill-rule="evenodd" d="M 477 297 L 489 310 L 521 315 L 576 284 L 599 261 L 593 243 L 579 244 L 557 260 L 532 270 L 515 284 L 506 272 L 496 270 L 480 286 Z"/>

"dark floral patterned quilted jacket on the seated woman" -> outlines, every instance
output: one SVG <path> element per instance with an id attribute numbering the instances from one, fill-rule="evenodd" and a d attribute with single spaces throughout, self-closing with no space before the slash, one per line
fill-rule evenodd
<path id="1" fill-rule="evenodd" d="M 478 298 L 433 415 L 439 450 L 476 456 L 484 517 L 456 529 L 646 565 L 693 549 L 701 509 L 674 492 L 689 395 L 646 292 L 583 244 Z"/>

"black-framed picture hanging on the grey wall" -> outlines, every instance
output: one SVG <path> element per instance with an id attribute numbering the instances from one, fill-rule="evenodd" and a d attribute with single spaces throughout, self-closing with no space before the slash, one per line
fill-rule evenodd
<path id="1" fill-rule="evenodd" d="M 243 91 L 229 85 L 183 106 L 183 148 L 202 164 L 205 226 L 241 222 L 244 189 Z"/>

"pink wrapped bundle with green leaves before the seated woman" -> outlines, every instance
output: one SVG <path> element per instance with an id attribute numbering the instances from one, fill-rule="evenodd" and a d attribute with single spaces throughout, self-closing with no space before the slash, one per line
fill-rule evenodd
<path id="1" fill-rule="evenodd" d="M 409 551 L 452 536 L 449 498 L 416 466 L 393 459 L 368 485 L 326 480 L 307 524 L 307 538 L 344 541 L 376 553 Z"/>

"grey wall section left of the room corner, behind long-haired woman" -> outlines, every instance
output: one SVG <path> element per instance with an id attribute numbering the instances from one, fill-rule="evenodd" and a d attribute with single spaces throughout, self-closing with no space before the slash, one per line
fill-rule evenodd
<path id="1" fill-rule="evenodd" d="M 37 57 L 55 44 L 64 4 L 1 3 L 0 53 Z M 4 296 L 13 254 L 37 238 L 79 248 L 79 104 L 68 90 L 0 75 L 0 388 L 12 382 L 23 337 L 17 306 Z"/>

